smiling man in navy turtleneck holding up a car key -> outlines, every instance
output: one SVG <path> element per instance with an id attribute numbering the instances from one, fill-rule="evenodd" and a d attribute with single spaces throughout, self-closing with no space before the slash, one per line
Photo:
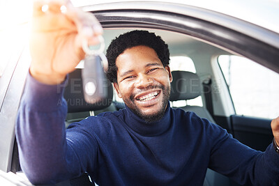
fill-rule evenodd
<path id="1" fill-rule="evenodd" d="M 87 171 L 98 185 L 202 185 L 207 167 L 247 185 L 278 185 L 279 155 L 236 141 L 193 112 L 169 107 L 169 52 L 160 37 L 125 33 L 107 49 L 107 76 L 126 109 L 73 123 L 65 130 L 66 75 L 96 44 L 96 20 L 51 1 L 34 6 L 32 63 L 16 134 L 20 162 L 32 183 L 56 183 Z M 58 88 L 58 89 L 57 89 Z M 279 142 L 279 119 L 271 123 Z"/>

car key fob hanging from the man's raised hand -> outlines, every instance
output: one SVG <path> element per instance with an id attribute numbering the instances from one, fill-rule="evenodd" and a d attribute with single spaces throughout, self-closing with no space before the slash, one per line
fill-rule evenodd
<path id="1" fill-rule="evenodd" d="M 82 86 L 86 102 L 95 104 L 107 98 L 108 88 L 105 80 L 105 72 L 100 61 L 100 56 L 86 56 L 84 59 L 84 68 L 82 69 Z"/>

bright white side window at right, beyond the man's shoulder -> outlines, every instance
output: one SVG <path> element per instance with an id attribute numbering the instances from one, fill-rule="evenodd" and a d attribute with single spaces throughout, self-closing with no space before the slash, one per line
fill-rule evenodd
<path id="1" fill-rule="evenodd" d="M 236 114 L 262 118 L 279 115 L 279 75 L 241 56 L 222 55 L 218 63 Z"/>

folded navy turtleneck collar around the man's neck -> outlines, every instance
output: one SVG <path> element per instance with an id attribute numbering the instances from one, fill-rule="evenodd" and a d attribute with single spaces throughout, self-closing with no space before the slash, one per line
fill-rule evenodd
<path id="1" fill-rule="evenodd" d="M 142 134 L 143 136 L 156 136 L 165 132 L 171 123 L 170 116 L 170 106 L 169 102 L 167 103 L 167 109 L 165 115 L 159 121 L 153 123 L 147 123 L 137 114 L 133 113 L 125 104 L 126 113 L 125 113 L 125 123 L 135 132 Z"/>

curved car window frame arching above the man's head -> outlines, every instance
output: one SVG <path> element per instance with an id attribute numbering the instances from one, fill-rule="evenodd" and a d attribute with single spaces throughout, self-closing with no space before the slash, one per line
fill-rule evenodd
<path id="1" fill-rule="evenodd" d="M 279 33 L 193 6 L 167 3 L 166 8 L 166 3 L 158 2 L 127 2 L 124 8 L 117 5 L 123 4 L 86 6 L 83 9 L 93 13 L 104 28 L 119 28 L 121 25 L 123 28 L 143 27 L 184 33 L 229 52 L 246 56 L 266 68 L 279 72 L 279 66 L 276 65 L 276 59 L 279 58 L 279 42 L 271 42 L 279 39 Z M 227 25 L 226 22 L 230 24 Z"/>

